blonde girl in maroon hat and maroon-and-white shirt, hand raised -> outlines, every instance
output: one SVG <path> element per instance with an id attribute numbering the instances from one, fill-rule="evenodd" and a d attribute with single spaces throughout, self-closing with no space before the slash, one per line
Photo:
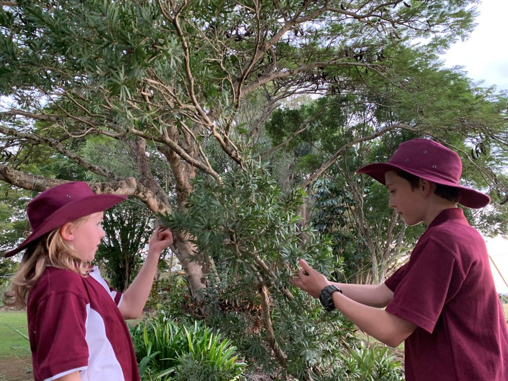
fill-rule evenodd
<path id="1" fill-rule="evenodd" d="M 103 211 L 126 199 L 96 195 L 85 182 L 47 189 L 27 207 L 31 235 L 6 305 L 26 307 L 35 380 L 139 380 L 124 319 L 138 317 L 150 293 L 158 258 L 173 242 L 157 228 L 148 255 L 125 293 L 110 289 L 91 267 L 105 233 Z"/>

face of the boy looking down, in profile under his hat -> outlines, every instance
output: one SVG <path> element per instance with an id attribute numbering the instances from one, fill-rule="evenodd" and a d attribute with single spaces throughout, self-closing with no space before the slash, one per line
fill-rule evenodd
<path id="1" fill-rule="evenodd" d="M 409 181 L 394 171 L 386 172 L 385 180 L 390 193 L 390 207 L 397 211 L 407 225 L 413 226 L 421 223 L 424 220 L 425 211 L 423 199 L 420 197 L 420 186 L 412 189 Z"/>

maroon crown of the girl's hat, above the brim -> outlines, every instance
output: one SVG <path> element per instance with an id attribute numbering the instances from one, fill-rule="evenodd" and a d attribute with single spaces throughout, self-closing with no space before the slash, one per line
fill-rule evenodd
<path id="1" fill-rule="evenodd" d="M 63 206 L 93 195 L 93 190 L 84 181 L 70 182 L 46 189 L 30 201 L 26 208 L 31 230 L 37 230 L 44 221 Z M 64 221 L 61 225 L 69 221 Z"/>

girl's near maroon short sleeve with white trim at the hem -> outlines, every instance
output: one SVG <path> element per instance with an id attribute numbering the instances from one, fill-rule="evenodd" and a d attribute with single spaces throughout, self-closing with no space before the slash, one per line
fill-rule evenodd
<path id="1" fill-rule="evenodd" d="M 86 301 L 70 293 L 49 295 L 38 304 L 32 352 L 34 368 L 41 379 L 54 379 L 86 369 Z"/>

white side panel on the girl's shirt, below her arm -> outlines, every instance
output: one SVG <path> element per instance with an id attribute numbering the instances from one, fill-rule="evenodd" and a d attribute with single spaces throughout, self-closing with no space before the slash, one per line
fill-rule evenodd
<path id="1" fill-rule="evenodd" d="M 109 289 L 108 289 L 109 290 Z M 88 345 L 88 367 L 79 372 L 81 381 L 121 381 L 123 371 L 116 359 L 113 346 L 106 336 L 106 327 L 101 315 L 86 305 L 86 343 Z"/>

